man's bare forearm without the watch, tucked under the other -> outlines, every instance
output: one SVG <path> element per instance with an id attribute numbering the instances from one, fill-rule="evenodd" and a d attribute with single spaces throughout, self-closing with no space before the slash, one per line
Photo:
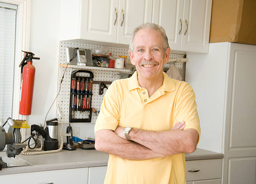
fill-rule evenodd
<path id="1" fill-rule="evenodd" d="M 95 148 L 130 160 L 164 157 L 145 146 L 120 138 L 112 130 L 99 130 L 95 133 Z"/>

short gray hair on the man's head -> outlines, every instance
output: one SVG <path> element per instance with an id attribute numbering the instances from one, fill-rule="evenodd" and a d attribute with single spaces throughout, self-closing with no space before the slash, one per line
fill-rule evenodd
<path id="1" fill-rule="evenodd" d="M 159 31 L 159 33 L 161 33 L 162 38 L 163 38 L 163 47 L 164 47 L 164 54 L 165 54 L 166 49 L 169 48 L 168 38 L 166 36 L 164 28 L 155 23 L 143 23 L 134 29 L 133 35 L 131 37 L 129 50 L 133 52 L 133 49 L 134 49 L 133 48 L 133 38 L 136 35 L 136 33 L 141 29 L 151 29 L 151 30 Z"/>

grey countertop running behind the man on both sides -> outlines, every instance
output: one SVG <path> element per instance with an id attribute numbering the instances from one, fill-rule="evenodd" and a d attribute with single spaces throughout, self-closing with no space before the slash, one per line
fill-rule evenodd
<path id="1" fill-rule="evenodd" d="M 6 152 L 0 152 L 0 156 L 7 157 Z M 83 150 L 77 148 L 75 151 L 62 150 L 59 153 L 41 154 L 41 155 L 18 155 L 33 166 L 8 167 L 0 171 L 0 175 L 18 174 L 36 171 L 49 171 L 58 169 L 72 169 L 82 167 L 107 166 L 108 154 L 96 150 Z M 193 153 L 185 154 L 186 161 L 223 158 L 222 153 L 203 150 L 197 148 Z"/>

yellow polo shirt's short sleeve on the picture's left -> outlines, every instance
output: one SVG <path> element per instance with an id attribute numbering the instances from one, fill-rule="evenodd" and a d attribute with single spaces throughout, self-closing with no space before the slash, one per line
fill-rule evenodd
<path id="1" fill-rule="evenodd" d="M 108 87 L 103 97 L 100 113 L 95 123 L 94 132 L 102 129 L 115 130 L 119 122 L 119 107 L 115 97 L 115 87 L 113 82 Z"/>

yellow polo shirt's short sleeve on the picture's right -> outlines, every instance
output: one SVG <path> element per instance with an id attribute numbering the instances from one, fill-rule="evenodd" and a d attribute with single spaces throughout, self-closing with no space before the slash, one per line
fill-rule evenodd
<path id="1" fill-rule="evenodd" d="M 185 129 L 193 128 L 197 130 L 200 138 L 201 128 L 200 120 L 197 113 L 197 104 L 195 101 L 195 92 L 188 84 L 184 84 L 184 88 L 180 94 L 179 100 L 175 105 L 174 123 L 185 121 Z M 198 141 L 199 141 L 198 138 Z"/>

